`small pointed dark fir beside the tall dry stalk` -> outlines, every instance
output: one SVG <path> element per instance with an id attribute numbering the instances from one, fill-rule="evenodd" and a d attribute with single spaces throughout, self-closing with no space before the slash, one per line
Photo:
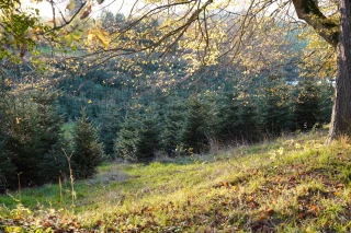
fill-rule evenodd
<path id="1" fill-rule="evenodd" d="M 103 147 L 98 142 L 98 129 L 88 120 L 82 109 L 73 129 L 72 170 L 77 178 L 89 178 L 97 173 L 97 166 L 103 160 Z"/>

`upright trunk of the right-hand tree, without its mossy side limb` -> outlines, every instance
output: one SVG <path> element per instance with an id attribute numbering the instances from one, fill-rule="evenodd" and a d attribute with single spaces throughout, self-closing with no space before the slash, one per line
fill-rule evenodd
<path id="1" fill-rule="evenodd" d="M 351 2 L 340 0 L 340 37 L 336 100 L 327 143 L 351 133 Z"/>

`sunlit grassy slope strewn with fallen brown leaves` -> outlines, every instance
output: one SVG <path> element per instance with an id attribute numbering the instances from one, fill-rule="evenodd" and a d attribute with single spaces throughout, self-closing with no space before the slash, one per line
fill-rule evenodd
<path id="1" fill-rule="evenodd" d="M 9 208 L 0 209 L 0 225 L 11 225 L 8 231 L 24 225 L 48 231 L 349 232 L 351 147 L 347 139 L 324 145 L 325 135 L 282 137 L 169 163 L 106 164 L 97 177 L 77 182 L 73 209 L 69 183 L 63 188 L 64 209 L 57 185 L 22 190 L 21 202 L 35 210 L 31 214 L 22 207 L 10 212 L 19 194 L 0 196 Z"/>

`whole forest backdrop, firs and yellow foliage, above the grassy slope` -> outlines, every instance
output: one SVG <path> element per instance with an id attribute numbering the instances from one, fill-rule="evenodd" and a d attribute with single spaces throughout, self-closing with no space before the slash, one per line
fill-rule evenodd
<path id="1" fill-rule="evenodd" d="M 48 22 L 19 3 L 1 14 L 2 190 L 68 178 L 69 165 L 88 178 L 102 161 L 203 154 L 330 121 L 335 47 L 283 2 L 219 2 L 193 19 L 207 4 L 91 16 L 92 2 L 68 1 Z"/>

